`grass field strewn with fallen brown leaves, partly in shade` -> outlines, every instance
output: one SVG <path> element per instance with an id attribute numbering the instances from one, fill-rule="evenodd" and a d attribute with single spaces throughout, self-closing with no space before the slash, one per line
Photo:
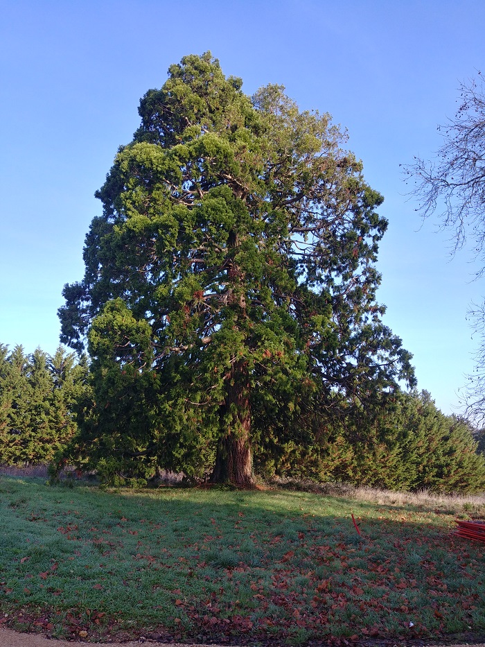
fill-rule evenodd
<path id="1" fill-rule="evenodd" d="M 1 476 L 0 622 L 94 641 L 484 635 L 482 544 L 452 534 L 479 503 L 379 496 Z"/>

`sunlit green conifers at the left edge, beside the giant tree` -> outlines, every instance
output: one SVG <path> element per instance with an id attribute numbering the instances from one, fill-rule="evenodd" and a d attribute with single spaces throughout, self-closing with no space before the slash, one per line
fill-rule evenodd
<path id="1" fill-rule="evenodd" d="M 76 432 L 74 403 L 85 388 L 87 363 L 59 347 L 26 354 L 0 345 L 0 462 L 46 463 Z"/>

